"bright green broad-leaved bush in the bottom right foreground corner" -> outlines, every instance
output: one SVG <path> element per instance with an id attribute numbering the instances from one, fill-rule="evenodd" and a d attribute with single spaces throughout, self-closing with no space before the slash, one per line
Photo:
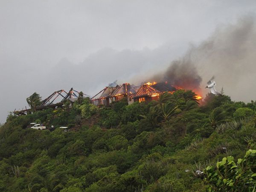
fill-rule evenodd
<path id="1" fill-rule="evenodd" d="M 254 191 L 256 186 L 256 150 L 246 152 L 243 159 L 224 157 L 217 162 L 216 168 L 208 166 L 206 169 L 206 181 L 209 183 L 209 191 Z"/>

